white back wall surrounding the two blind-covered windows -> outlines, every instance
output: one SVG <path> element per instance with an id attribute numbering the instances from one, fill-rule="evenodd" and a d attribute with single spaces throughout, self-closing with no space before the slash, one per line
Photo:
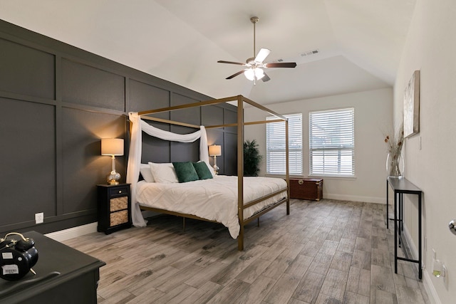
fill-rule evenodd
<path id="1" fill-rule="evenodd" d="M 356 178 L 323 177 L 323 197 L 384 204 L 387 154 L 383 134 L 393 124 L 393 88 L 267 105 L 280 114 L 302 113 L 304 177 L 309 176 L 309 111 L 345 107 L 355 108 Z M 253 108 L 244 113 L 246 121 L 264 120 L 267 115 Z M 265 125 L 252 125 L 245 130 L 245 140 L 257 140 L 260 153 L 266 155 Z M 266 159 L 260 175 L 265 173 Z"/>

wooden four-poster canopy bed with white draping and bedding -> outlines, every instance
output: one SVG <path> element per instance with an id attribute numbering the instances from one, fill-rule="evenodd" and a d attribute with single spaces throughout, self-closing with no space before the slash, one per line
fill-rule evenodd
<path id="1" fill-rule="evenodd" d="M 225 125 L 198 126 L 185 122 L 176 122 L 152 117 L 160 112 L 182 110 L 185 108 L 216 105 L 218 103 L 237 102 L 237 122 Z M 244 103 L 259 110 L 268 112 L 276 117 L 275 120 L 244 122 Z M 244 249 L 244 226 L 259 216 L 286 203 L 286 214 L 289 214 L 289 148 L 288 148 L 288 121 L 286 117 L 265 108 L 242 95 L 216 100 L 207 100 L 199 103 L 177 105 L 169 108 L 130 112 L 130 153 L 128 158 L 127 182 L 131 184 L 132 220 L 135 226 L 146 226 L 142 218 L 141 209 L 172 214 L 190 219 L 200 219 L 224 224 L 229 229 L 233 239 L 237 238 L 238 249 Z M 180 125 L 199 129 L 196 132 L 180 135 L 157 129 L 145 120 L 165 122 L 171 125 Z M 244 126 L 274 122 L 285 122 L 286 143 L 286 176 L 285 179 L 271 177 L 244 177 Z M 237 127 L 237 177 L 217 176 L 209 172 L 209 153 L 206 129 L 217 127 Z M 161 180 L 139 181 L 140 171 L 146 164 L 141 164 L 142 133 L 177 142 L 195 142 L 199 139 L 199 162 L 177 163 L 188 169 L 202 169 L 204 178 L 170 181 L 175 179 L 173 174 L 180 174 L 180 167 L 172 168 L 173 164 L 149 163 L 152 175 Z M 201 163 L 205 163 L 206 166 Z M 192 167 L 193 166 L 193 167 Z M 205 168 L 204 168 L 205 167 Z M 174 170 L 170 173 L 170 169 Z M 179 170 L 178 170 L 179 169 Z M 188 171 L 188 170 L 187 170 Z M 183 171 L 183 172 L 187 172 Z M 141 171 L 143 172 L 143 171 Z M 187 174 L 187 173 L 186 173 Z M 194 173 L 192 173 L 194 174 Z M 144 175 L 144 174 L 142 174 Z M 193 176 L 193 175 L 192 175 Z M 144 177 L 144 176 L 143 176 Z M 185 176 L 187 178 L 187 176 Z M 192 198 L 192 199 L 191 199 Z"/>

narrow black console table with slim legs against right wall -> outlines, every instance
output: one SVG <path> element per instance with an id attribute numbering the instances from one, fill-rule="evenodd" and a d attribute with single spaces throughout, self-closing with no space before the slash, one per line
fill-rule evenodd
<path id="1" fill-rule="evenodd" d="M 394 191 L 394 273 L 398 273 L 398 260 L 418 263 L 418 278 L 421 279 L 423 277 L 423 269 L 421 268 L 423 260 L 421 252 L 421 196 L 423 192 L 405 178 L 388 177 L 388 179 L 386 179 L 386 228 L 388 229 L 388 221 L 390 220 L 388 215 L 388 186 Z M 418 260 L 398 257 L 398 241 L 400 245 L 401 231 L 404 229 L 404 194 L 418 195 Z"/>

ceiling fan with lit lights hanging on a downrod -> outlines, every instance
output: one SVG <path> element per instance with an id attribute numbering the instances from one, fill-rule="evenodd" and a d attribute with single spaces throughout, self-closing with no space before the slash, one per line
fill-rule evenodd
<path id="1" fill-rule="evenodd" d="M 247 58 L 246 63 L 234 62 L 234 61 L 217 61 L 218 63 L 229 63 L 229 64 L 237 64 L 237 65 L 244 65 L 244 70 L 239 70 L 239 72 L 234 73 L 231 76 L 228 76 L 226 79 L 232 79 L 237 75 L 241 75 L 244 73 L 245 77 L 249 80 L 253 80 L 254 84 L 257 80 L 261 79 L 264 82 L 271 80 L 266 73 L 264 73 L 263 68 L 294 68 L 296 67 L 296 63 L 294 62 L 280 62 L 280 63 L 264 63 L 264 59 L 271 53 L 271 50 L 267 48 L 261 48 L 255 56 L 255 25 L 259 21 L 258 17 L 252 17 L 250 19 L 252 23 L 254 23 L 254 57 Z"/>

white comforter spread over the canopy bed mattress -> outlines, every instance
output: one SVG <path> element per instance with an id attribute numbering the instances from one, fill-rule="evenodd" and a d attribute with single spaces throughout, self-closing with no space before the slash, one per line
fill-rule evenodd
<path id="1" fill-rule="evenodd" d="M 285 189 L 284 179 L 271 177 L 244 177 L 244 204 Z M 140 206 L 149 206 L 182 214 L 192 214 L 227 226 L 233 239 L 239 235 L 237 218 L 237 177 L 217 175 L 186 183 L 138 182 L 136 198 Z M 244 219 L 264 209 L 269 204 L 286 197 L 286 192 L 261 201 L 244 210 Z"/>

